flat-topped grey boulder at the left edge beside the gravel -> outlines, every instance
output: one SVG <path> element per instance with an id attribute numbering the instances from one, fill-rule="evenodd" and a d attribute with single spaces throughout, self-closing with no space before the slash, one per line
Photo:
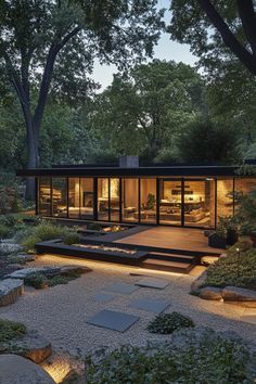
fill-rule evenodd
<path id="1" fill-rule="evenodd" d="M 0 282 L 0 307 L 13 304 L 24 293 L 24 283 L 20 279 L 5 279 Z"/>

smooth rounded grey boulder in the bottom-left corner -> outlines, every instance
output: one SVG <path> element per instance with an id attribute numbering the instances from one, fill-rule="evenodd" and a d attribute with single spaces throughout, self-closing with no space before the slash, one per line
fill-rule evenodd
<path id="1" fill-rule="evenodd" d="M 1 384 L 54 384 L 42 368 L 21 356 L 0 356 Z"/>

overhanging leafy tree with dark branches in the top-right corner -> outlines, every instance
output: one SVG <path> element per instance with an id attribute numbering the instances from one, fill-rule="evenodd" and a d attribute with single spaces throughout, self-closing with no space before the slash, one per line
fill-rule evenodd
<path id="1" fill-rule="evenodd" d="M 253 0 L 172 0 L 170 11 L 168 30 L 172 38 L 191 44 L 192 51 L 205 63 L 230 59 L 232 52 L 233 57 L 256 75 Z"/>

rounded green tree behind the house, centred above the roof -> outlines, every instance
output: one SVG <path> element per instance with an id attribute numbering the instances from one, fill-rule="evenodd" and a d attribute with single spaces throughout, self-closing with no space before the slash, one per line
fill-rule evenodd
<path id="1" fill-rule="evenodd" d="M 116 75 L 98 95 L 93 125 L 119 153 L 152 162 L 174 146 L 180 126 L 203 113 L 204 82 L 183 63 L 154 60 Z"/>

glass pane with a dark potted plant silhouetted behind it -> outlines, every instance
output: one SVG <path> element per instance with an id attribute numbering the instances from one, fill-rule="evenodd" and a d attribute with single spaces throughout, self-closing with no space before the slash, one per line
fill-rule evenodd
<path id="1" fill-rule="evenodd" d="M 156 179 L 140 179 L 140 221 L 156 222 Z"/>

